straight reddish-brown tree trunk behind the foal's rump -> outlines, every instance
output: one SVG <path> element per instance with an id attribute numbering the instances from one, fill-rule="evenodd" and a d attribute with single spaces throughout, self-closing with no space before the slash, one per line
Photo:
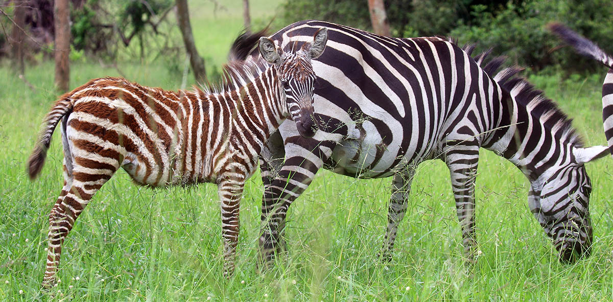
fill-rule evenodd
<path id="1" fill-rule="evenodd" d="M 70 68 L 70 14 L 68 0 L 55 0 L 55 86 L 59 91 L 68 91 Z"/>

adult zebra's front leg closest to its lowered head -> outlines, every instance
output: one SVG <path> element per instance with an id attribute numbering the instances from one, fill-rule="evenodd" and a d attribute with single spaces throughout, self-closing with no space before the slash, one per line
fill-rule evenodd
<path id="1" fill-rule="evenodd" d="M 477 142 L 462 142 L 446 150 L 445 163 L 451 172 L 451 188 L 454 192 L 455 209 L 462 228 L 464 255 L 474 261 L 474 180 L 477 176 L 479 145 Z"/>

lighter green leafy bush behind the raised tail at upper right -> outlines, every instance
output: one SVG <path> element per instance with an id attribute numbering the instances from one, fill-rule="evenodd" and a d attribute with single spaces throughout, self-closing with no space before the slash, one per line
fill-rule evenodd
<path id="1" fill-rule="evenodd" d="M 606 48 L 613 45 L 613 22 L 610 1 L 560 0 L 509 3 L 499 14 L 493 15 L 483 6 L 473 10 L 474 23 L 460 24 L 451 36 L 464 42 L 477 42 L 478 48 L 493 48 L 493 53 L 504 54 L 517 64 L 540 71 L 547 66 L 566 72 L 600 70 L 572 50 L 554 51 L 560 41 L 547 31 L 546 25 L 560 21 L 596 41 Z M 613 48 L 609 48 L 609 52 Z"/>

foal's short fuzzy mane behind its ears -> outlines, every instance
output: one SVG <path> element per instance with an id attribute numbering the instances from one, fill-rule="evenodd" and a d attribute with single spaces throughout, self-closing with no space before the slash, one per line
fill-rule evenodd
<path id="1" fill-rule="evenodd" d="M 207 94 L 237 90 L 259 77 L 267 67 L 267 63 L 263 60 L 252 57 L 246 58 L 245 61 L 230 61 L 224 65 L 219 83 L 207 81 L 200 86 L 200 89 Z"/>

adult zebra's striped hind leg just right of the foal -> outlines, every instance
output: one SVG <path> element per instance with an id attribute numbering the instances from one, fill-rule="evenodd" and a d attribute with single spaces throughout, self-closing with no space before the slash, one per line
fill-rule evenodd
<path id="1" fill-rule="evenodd" d="M 318 145 L 305 148 L 297 144 L 287 144 L 286 154 L 293 156 L 285 160 L 274 179 L 265 180 L 268 184 L 265 185 L 262 198 L 262 231 L 258 241 L 259 262 L 264 265 L 270 263 L 274 254 L 285 247 L 283 232 L 287 209 L 308 188 L 329 156 L 323 152 L 314 154 L 318 149 Z"/>

